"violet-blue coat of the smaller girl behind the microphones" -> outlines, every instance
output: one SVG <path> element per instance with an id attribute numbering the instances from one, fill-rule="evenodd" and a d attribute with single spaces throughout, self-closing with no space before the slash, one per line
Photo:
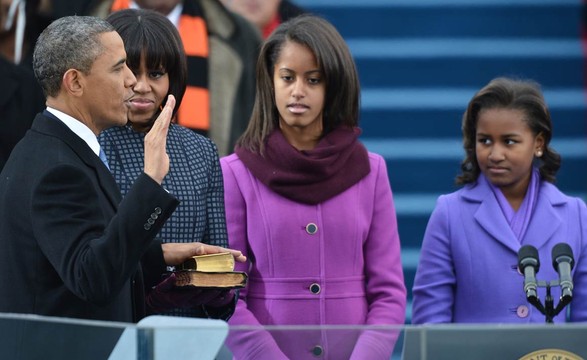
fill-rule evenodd
<path id="1" fill-rule="evenodd" d="M 568 243 L 575 257 L 575 289 L 569 316 L 554 322 L 587 320 L 587 209 L 583 200 L 541 181 L 534 213 L 521 243 L 514 235 L 484 176 L 438 199 L 422 244 L 413 295 L 412 322 L 544 323 L 526 300 L 518 272 L 522 245 L 538 249 L 537 279 L 552 281 L 554 245 Z M 539 288 L 544 304 L 545 288 Z M 552 289 L 554 305 L 560 288 Z"/>

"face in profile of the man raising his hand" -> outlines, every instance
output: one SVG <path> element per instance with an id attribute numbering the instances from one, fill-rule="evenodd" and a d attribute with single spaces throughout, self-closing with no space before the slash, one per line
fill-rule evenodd
<path id="1" fill-rule="evenodd" d="M 98 133 L 111 126 L 126 124 L 128 100 L 133 96 L 136 78 L 126 66 L 124 44 L 117 32 L 100 35 L 104 48 L 89 74 L 81 74 L 81 105 L 88 111 L 86 119 Z"/>

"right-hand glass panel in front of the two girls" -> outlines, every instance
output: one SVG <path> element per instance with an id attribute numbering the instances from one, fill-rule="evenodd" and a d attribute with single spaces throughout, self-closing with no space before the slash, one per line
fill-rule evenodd
<path id="1" fill-rule="evenodd" d="M 428 325 L 401 327 L 231 327 L 230 350 L 281 351 L 290 359 L 587 359 L 587 325 Z M 278 346 L 279 348 L 276 348 Z M 391 356 L 382 354 L 389 353 Z M 355 355 L 357 355 L 355 357 Z M 247 355 L 247 356 L 248 356 Z M 246 356 L 245 356 L 246 358 Z"/>

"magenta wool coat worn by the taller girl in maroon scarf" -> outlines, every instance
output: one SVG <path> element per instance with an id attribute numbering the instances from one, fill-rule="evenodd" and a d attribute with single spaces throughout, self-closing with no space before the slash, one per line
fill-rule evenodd
<path id="1" fill-rule="evenodd" d="M 318 205 L 286 199 L 236 154 L 221 159 L 229 245 L 251 260 L 237 325 L 403 324 L 406 289 L 391 187 L 383 158 Z M 397 334 L 358 331 L 231 331 L 236 359 L 389 359 Z"/>

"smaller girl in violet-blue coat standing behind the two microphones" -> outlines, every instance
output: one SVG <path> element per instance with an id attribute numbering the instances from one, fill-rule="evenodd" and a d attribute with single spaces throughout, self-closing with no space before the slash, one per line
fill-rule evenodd
<path id="1" fill-rule="evenodd" d="M 561 159 L 550 146 L 552 124 L 539 85 L 498 78 L 463 116 L 465 159 L 457 183 L 438 199 L 422 244 L 412 321 L 544 323 L 526 299 L 518 271 L 523 245 L 538 250 L 537 277 L 558 280 L 556 244 L 575 257 L 573 300 L 554 322 L 587 320 L 587 209 L 554 185 Z M 538 288 L 544 304 L 546 290 Z M 555 306 L 560 288 L 552 288 Z"/>

